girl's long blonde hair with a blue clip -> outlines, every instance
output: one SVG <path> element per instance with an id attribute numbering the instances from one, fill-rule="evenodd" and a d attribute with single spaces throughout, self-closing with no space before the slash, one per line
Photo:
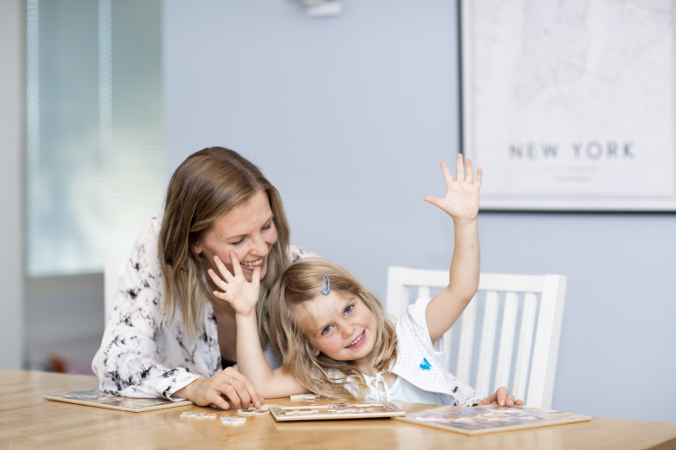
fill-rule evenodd
<path id="1" fill-rule="evenodd" d="M 331 292 L 358 297 L 373 313 L 377 323 L 375 345 L 370 354 L 370 368 L 388 371 L 397 359 L 397 335 L 378 297 L 362 286 L 343 266 L 322 258 L 307 258 L 289 266 L 272 287 L 269 296 L 269 336 L 273 347 L 283 356 L 284 371 L 294 374 L 308 391 L 323 397 L 363 400 L 367 384 L 361 371 L 351 361 L 335 361 L 314 348 L 307 336 L 308 315 L 303 303 L 323 295 L 324 274 L 329 275 Z M 353 395 L 346 384 L 354 384 Z"/>

